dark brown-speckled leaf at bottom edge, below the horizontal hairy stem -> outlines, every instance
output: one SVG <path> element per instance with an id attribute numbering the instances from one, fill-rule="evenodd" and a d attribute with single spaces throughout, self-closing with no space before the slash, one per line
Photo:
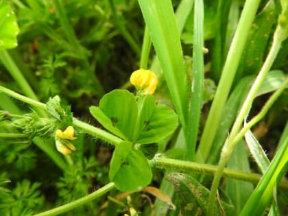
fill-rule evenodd
<path id="1" fill-rule="evenodd" d="M 206 215 L 210 191 L 191 176 L 184 173 L 170 173 L 166 179 L 171 182 L 178 196 L 181 215 Z M 221 206 L 219 204 L 221 203 Z M 223 215 L 232 208 L 230 204 L 219 201 L 215 204 L 215 215 Z"/>

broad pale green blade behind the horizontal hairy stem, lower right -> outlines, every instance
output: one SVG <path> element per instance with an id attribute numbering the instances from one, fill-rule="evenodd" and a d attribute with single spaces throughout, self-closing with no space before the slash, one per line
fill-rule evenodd
<path id="1" fill-rule="evenodd" d="M 245 142 L 243 140 L 238 143 L 232 152 L 227 167 L 241 171 L 250 171 L 248 152 L 245 149 Z M 253 184 L 251 182 L 244 182 L 232 178 L 226 180 L 226 192 L 234 206 L 230 215 L 240 214 L 252 191 Z"/>

